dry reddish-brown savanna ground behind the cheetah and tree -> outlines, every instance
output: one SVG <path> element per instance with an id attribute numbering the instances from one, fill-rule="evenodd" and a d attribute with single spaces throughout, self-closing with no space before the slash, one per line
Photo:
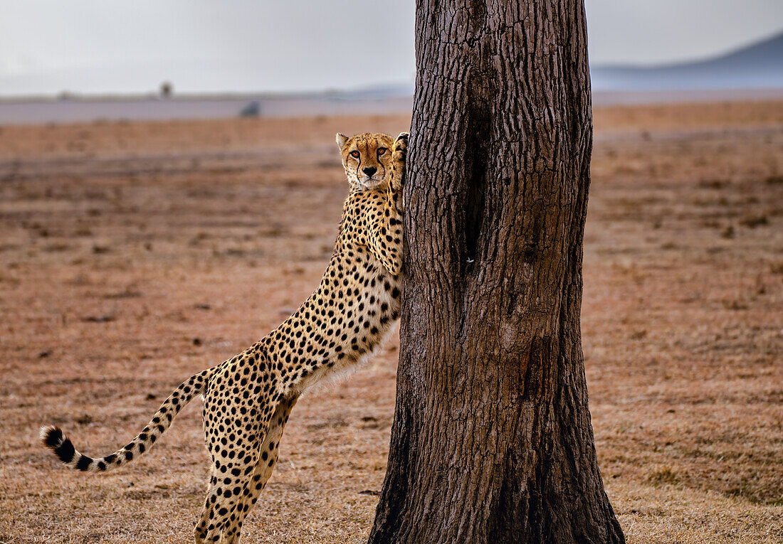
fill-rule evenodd
<path id="1" fill-rule="evenodd" d="M 346 186 L 334 132 L 406 117 L 0 131 L 0 542 L 187 542 L 200 402 L 124 470 L 187 376 L 312 291 Z M 629 542 L 783 541 L 783 102 L 595 111 L 583 343 L 596 447 Z M 297 405 L 244 542 L 365 542 L 397 340 Z"/>

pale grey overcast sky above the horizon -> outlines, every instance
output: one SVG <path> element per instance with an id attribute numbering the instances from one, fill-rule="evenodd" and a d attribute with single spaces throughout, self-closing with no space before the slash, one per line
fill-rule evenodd
<path id="1" fill-rule="evenodd" d="M 390 9 L 395 5 L 395 9 Z M 713 56 L 783 0 L 585 0 L 590 61 Z M 413 81 L 413 0 L 0 0 L 0 95 L 255 92 Z"/>

